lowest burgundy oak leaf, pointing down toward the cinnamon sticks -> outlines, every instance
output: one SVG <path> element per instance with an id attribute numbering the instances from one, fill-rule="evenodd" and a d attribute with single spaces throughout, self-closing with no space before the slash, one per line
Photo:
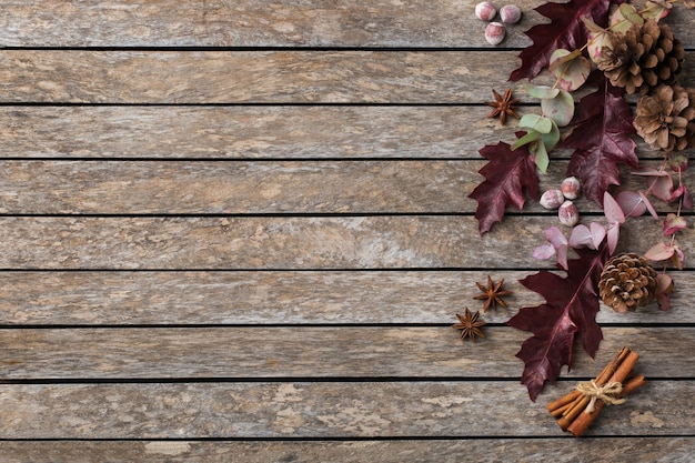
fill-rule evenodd
<path id="1" fill-rule="evenodd" d="M 572 369 L 575 338 L 593 358 L 603 339 L 596 323 L 600 303 L 597 284 L 608 259 L 606 241 L 597 250 L 577 249 L 580 259 L 567 261 L 567 276 L 541 271 L 520 280 L 524 286 L 545 298 L 545 303 L 523 308 L 507 324 L 533 333 L 516 354 L 524 361 L 522 383 L 532 401 L 546 381 L 555 383 L 562 365 Z"/>

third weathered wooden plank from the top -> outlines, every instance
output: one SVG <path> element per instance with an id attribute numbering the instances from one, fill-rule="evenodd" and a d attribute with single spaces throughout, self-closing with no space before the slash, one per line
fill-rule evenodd
<path id="1" fill-rule="evenodd" d="M 517 130 L 513 119 L 500 125 L 488 113 L 437 105 L 4 105 L 0 158 L 480 159 L 477 150 L 511 142 Z M 655 157 L 644 143 L 637 153 Z"/>

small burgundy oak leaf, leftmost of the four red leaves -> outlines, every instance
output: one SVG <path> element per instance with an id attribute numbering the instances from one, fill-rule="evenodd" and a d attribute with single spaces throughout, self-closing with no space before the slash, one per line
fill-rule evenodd
<path id="1" fill-rule="evenodd" d="M 479 173 L 485 180 L 469 195 L 477 201 L 475 219 L 480 234 L 488 232 L 495 222 L 504 217 L 507 204 L 522 210 L 525 202 L 524 189 L 536 198 L 538 195 L 538 175 L 533 155 L 526 145 L 512 151 L 504 142 L 487 144 L 480 150 L 490 162 Z"/>

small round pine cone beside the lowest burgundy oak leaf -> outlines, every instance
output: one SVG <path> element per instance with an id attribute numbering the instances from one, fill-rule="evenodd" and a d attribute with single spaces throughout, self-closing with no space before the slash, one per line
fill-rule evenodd
<path id="1" fill-rule="evenodd" d="M 598 282 L 602 301 L 616 312 L 634 312 L 656 293 L 656 271 L 634 252 L 618 254 L 603 268 Z"/>

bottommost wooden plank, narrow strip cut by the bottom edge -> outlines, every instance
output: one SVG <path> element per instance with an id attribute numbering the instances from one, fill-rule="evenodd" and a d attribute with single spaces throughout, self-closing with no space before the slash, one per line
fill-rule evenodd
<path id="1" fill-rule="evenodd" d="M 397 441 L 6 441 L 0 452 L 8 463 L 268 463 L 318 461 L 353 463 L 457 463 L 462 457 L 480 463 L 500 461 L 557 463 L 611 461 L 614 463 L 691 463 L 695 437 L 584 437 L 576 439 L 451 439 Z"/>

